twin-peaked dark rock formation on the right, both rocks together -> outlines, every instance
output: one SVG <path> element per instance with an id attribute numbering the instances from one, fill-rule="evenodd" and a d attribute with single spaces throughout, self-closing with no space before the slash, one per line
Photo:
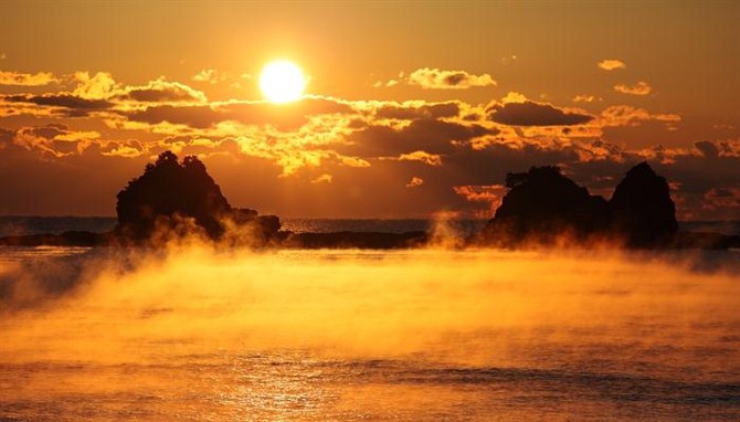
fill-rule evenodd
<path id="1" fill-rule="evenodd" d="M 557 167 L 508 173 L 509 191 L 484 229 L 484 242 L 518 245 L 609 238 L 628 246 L 667 245 L 678 230 L 668 183 L 646 162 L 632 168 L 612 199 L 575 184 Z"/>

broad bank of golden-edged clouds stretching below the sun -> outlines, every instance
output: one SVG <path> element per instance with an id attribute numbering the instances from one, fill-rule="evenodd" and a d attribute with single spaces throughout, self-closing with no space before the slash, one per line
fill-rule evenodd
<path id="1" fill-rule="evenodd" d="M 419 80 L 430 86 L 493 86 L 489 75 L 422 71 Z M 198 155 L 239 205 L 283 214 L 427 217 L 445 209 L 489 215 L 507 171 L 559 165 L 601 192 L 613 184 L 605 178 L 642 160 L 674 182 L 681 218 L 740 211 L 739 139 L 651 147 L 612 140 L 647 129 L 673 134 L 683 117 L 595 96 L 581 98 L 588 110 L 517 92 L 486 104 L 313 95 L 277 106 L 212 101 L 163 77 L 133 85 L 105 72 L 49 78 L 60 81 L 59 89 L 0 94 L 0 190 L 9 192 L 4 198 L 39 192 L 33 201 L 3 199 L 2 212 L 43 207 L 43 198 L 55 198 L 60 175 L 82 169 L 107 169 L 97 187 L 83 182 L 105 210 L 126 180 L 167 149 Z M 323 200 L 313 202 L 318 194 Z"/>

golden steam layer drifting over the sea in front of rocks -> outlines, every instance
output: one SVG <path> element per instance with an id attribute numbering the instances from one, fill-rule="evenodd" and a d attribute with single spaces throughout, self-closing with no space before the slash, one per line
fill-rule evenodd
<path id="1" fill-rule="evenodd" d="M 165 341 L 183 352 L 431 350 L 435 359 L 514 365 L 531 358 L 517 354 L 521 341 L 572 340 L 559 326 L 623 333 L 653 314 L 673 315 L 673 326 L 645 340 L 664 341 L 693 321 L 740 324 L 731 253 L 722 266 L 727 254 L 680 261 L 605 252 L 255 253 L 198 243 L 151 252 L 2 264 L 1 355 L 139 360 Z"/>

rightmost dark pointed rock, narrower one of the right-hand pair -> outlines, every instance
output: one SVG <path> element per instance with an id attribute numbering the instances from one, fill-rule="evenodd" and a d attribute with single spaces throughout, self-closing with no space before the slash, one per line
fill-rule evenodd
<path id="1" fill-rule="evenodd" d="M 612 229 L 627 244 L 651 246 L 670 242 L 678 231 L 676 205 L 666 179 L 647 162 L 627 171 L 609 201 Z"/>

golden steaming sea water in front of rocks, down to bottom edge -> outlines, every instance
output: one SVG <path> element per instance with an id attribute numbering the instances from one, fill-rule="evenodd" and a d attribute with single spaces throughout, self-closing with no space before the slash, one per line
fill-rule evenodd
<path id="1" fill-rule="evenodd" d="M 737 421 L 740 254 L 0 249 L 2 421 Z"/>

